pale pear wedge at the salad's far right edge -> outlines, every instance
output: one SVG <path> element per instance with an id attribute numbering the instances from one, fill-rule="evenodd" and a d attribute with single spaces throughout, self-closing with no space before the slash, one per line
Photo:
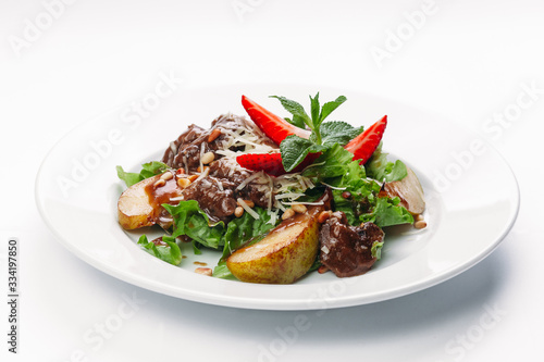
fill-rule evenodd
<path id="1" fill-rule="evenodd" d="M 384 184 L 384 191 L 390 197 L 398 197 L 400 204 L 406 208 L 411 214 L 418 215 L 425 211 L 425 200 L 423 187 L 418 179 L 418 176 L 410 168 L 406 168 L 408 174 L 405 178 Z"/>

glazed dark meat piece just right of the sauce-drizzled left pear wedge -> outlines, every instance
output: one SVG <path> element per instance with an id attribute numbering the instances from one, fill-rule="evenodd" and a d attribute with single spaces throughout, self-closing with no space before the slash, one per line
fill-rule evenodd
<path id="1" fill-rule="evenodd" d="M 228 221 L 236 210 L 234 188 L 227 179 L 206 176 L 183 190 L 184 200 L 197 200 L 200 209 L 213 222 Z"/>

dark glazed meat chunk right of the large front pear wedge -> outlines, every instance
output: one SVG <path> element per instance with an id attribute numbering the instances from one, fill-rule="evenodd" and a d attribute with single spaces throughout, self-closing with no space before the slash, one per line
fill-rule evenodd
<path id="1" fill-rule="evenodd" d="M 321 227 L 321 263 L 338 277 L 364 274 L 376 260 L 372 257 L 372 245 L 383 241 L 383 237 L 378 225 L 350 226 L 346 214 L 337 211 Z"/>

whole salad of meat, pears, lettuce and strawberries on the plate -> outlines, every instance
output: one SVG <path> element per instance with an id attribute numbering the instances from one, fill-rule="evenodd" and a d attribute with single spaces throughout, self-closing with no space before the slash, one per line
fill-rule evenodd
<path id="1" fill-rule="evenodd" d="M 218 251 L 214 269 L 195 272 L 248 283 L 289 284 L 306 274 L 367 273 L 381 259 L 384 228 L 424 228 L 425 202 L 416 174 L 382 152 L 383 116 L 368 128 L 325 121 L 346 97 L 309 112 L 277 99 L 281 117 L 243 96 L 247 116 L 220 115 L 190 125 L 160 161 L 139 173 L 118 166 L 128 187 L 118 202 L 125 229 L 159 225 L 164 235 L 138 245 L 174 265 L 180 246 Z"/>

